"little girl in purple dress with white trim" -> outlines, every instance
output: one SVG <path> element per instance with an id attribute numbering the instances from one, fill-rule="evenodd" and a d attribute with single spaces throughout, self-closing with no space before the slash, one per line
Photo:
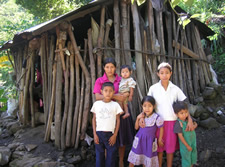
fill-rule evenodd
<path id="1" fill-rule="evenodd" d="M 141 104 L 144 113 L 137 116 L 135 129 L 139 129 L 139 120 L 143 118 L 143 115 L 145 127 L 140 127 L 134 138 L 133 147 L 128 156 L 129 167 L 141 164 L 145 167 L 158 167 L 156 130 L 160 128 L 158 144 L 163 146 L 163 119 L 155 113 L 155 99 L 152 96 L 145 96 Z"/>

